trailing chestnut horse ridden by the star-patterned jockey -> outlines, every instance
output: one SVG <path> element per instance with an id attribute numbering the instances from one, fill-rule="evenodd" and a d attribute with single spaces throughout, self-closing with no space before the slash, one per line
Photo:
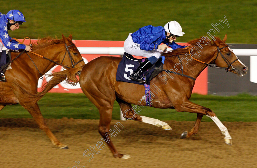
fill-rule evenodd
<path id="1" fill-rule="evenodd" d="M 6 105 L 20 103 L 32 115 L 39 128 L 45 131 L 54 146 L 67 148 L 65 144 L 60 143 L 46 125 L 38 104 L 35 103 L 28 108 L 26 103 L 20 101 L 22 92 L 13 90 L 13 83 L 20 84 L 26 91 L 37 93 L 39 77 L 47 73 L 54 65 L 74 67 L 76 64 L 76 66 L 82 66 L 85 63 L 79 50 L 72 42 L 72 35 L 69 35 L 68 38 L 62 35 L 60 40 L 45 37 L 32 46 L 32 51 L 45 59 L 35 54 L 24 52 L 11 63 L 12 69 L 6 70 L 5 73 L 7 81 L 0 82 L 0 110 Z M 11 60 L 20 53 L 11 52 Z"/>

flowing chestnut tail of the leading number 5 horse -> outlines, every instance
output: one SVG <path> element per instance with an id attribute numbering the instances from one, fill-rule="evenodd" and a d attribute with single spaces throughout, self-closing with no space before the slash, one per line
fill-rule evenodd
<path id="1" fill-rule="evenodd" d="M 36 102 L 38 102 L 48 91 L 54 88 L 57 84 L 61 83 L 62 81 L 66 81 L 68 84 L 76 85 L 79 80 L 76 77 L 76 74 L 80 75 L 80 71 L 82 70 L 83 66 L 66 69 L 60 72 L 56 72 L 53 74 L 48 75 L 52 77 L 46 84 L 43 86 L 43 90 L 37 94 L 33 94 L 25 90 L 20 84 L 17 82 L 13 82 L 13 85 L 16 89 L 14 89 L 14 93 L 19 94 L 22 93 L 22 96 L 19 95 L 20 103 L 24 104 L 27 108 L 31 108 Z"/>

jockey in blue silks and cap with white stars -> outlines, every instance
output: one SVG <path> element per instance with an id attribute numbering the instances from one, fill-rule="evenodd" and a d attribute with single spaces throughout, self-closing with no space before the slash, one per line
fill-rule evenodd
<path id="1" fill-rule="evenodd" d="M 24 15 L 19 10 L 10 10 L 6 15 L 0 13 L 0 38 L 6 48 L 11 50 L 25 49 L 31 51 L 31 47 L 24 44 L 18 44 L 17 41 L 11 40 L 12 38 L 8 35 L 7 30 L 16 30 L 19 26 L 26 22 Z M 0 43 L 0 57 L 2 53 L 3 44 Z M 1 60 L 1 59 L 0 59 Z M 0 61 L 0 68 L 3 62 Z M 2 72 L 0 72 L 0 81 L 5 79 Z"/>

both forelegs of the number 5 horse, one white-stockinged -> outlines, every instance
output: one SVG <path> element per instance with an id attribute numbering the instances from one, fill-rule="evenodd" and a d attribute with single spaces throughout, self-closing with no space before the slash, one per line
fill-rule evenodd
<path id="1" fill-rule="evenodd" d="M 218 126 L 218 128 L 221 130 L 222 134 L 225 135 L 225 138 L 224 138 L 225 143 L 232 145 L 232 138 L 229 135 L 228 129 L 222 124 L 222 122 L 218 119 L 216 114 L 209 108 L 200 106 L 198 104 L 192 103 L 189 100 L 187 100 L 181 106 L 175 107 L 175 110 L 177 110 L 178 112 L 186 111 L 186 112 L 190 112 L 190 113 L 199 114 L 199 115 L 197 115 L 197 119 L 196 119 L 194 128 L 189 132 L 191 135 L 196 134 L 198 132 L 200 121 L 201 121 L 202 115 L 204 114 L 207 117 L 210 117 L 215 122 L 215 124 Z M 183 134 L 185 134 L 185 133 L 186 132 L 184 132 Z M 191 136 L 191 135 L 183 135 L 183 134 L 181 135 L 183 137 Z"/>

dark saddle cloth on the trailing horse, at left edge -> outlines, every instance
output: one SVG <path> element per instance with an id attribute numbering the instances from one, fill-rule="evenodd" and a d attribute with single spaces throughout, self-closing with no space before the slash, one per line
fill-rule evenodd
<path id="1" fill-rule="evenodd" d="M 0 55 L 0 74 L 4 75 L 7 69 L 12 69 L 11 67 L 11 52 L 8 50 L 2 50 Z M 5 80 L 1 80 L 0 82 L 6 82 Z"/>

